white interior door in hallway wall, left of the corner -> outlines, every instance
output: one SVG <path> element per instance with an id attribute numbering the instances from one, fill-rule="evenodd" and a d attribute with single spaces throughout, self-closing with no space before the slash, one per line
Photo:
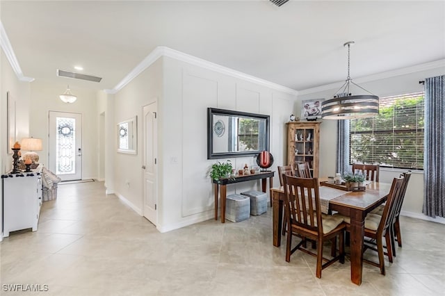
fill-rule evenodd
<path id="1" fill-rule="evenodd" d="M 156 102 L 143 108 L 144 138 L 144 217 L 156 225 L 157 222 L 157 167 L 156 167 Z"/>

